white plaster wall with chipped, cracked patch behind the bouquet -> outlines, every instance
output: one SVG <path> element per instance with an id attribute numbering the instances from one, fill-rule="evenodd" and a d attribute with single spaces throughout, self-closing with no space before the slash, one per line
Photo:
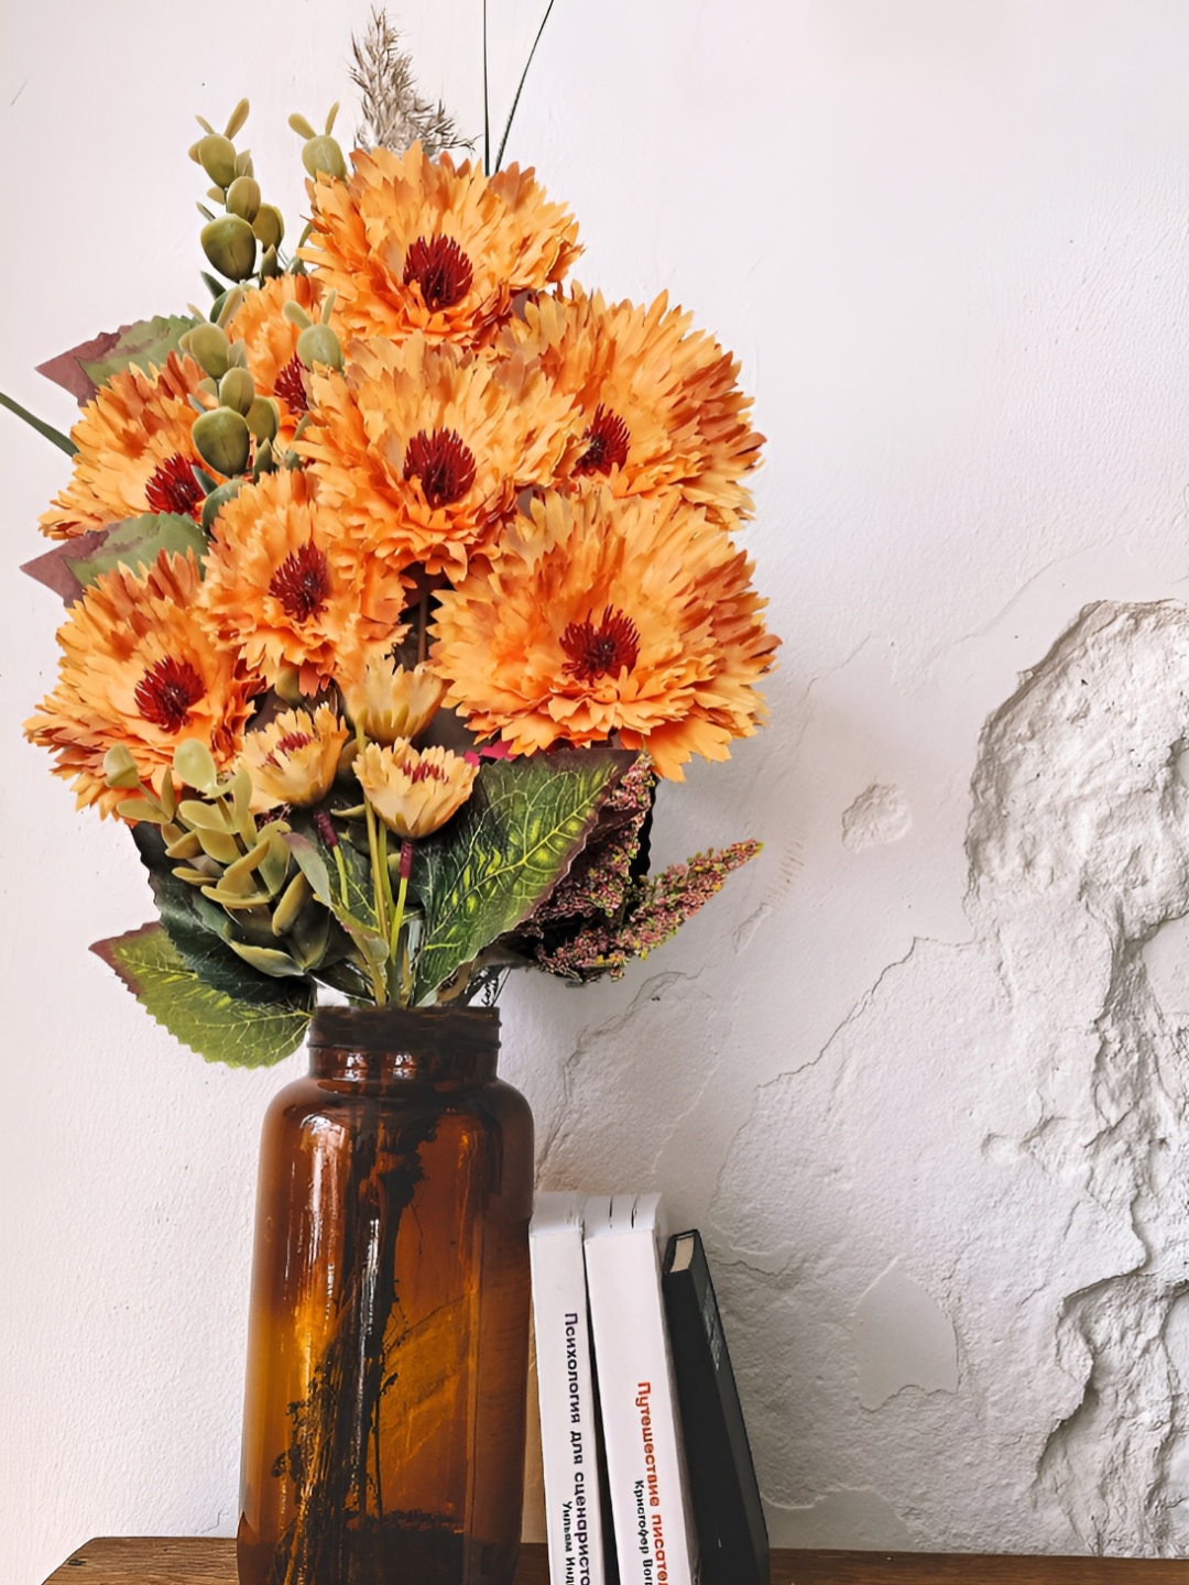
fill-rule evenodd
<path id="1" fill-rule="evenodd" d="M 490 0 L 499 113 L 536 3 Z M 477 0 L 406 0 L 480 124 Z M 43 0 L 0 38 L 0 387 L 195 296 L 193 111 L 347 95 L 366 0 Z M 707 1233 L 774 1539 L 1189 1544 L 1189 8 L 558 0 L 512 139 L 580 279 L 667 288 L 769 436 L 772 728 L 659 857 L 767 846 L 617 987 L 522 981 L 550 1186 Z M 176 1048 L 86 948 L 147 918 L 19 721 L 65 461 L 0 414 L 0 1579 L 224 1533 L 255 1135 L 300 1067 Z M 1084 612 L 1084 615 L 1083 615 Z M 1023 678 L 1023 680 L 1021 680 Z"/>

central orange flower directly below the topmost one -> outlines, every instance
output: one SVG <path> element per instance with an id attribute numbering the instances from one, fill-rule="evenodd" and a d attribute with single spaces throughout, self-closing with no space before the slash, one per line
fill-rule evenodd
<path id="1" fill-rule="evenodd" d="M 553 477 L 571 406 L 520 353 L 496 361 L 420 334 L 352 342 L 346 374 L 319 369 L 312 388 L 298 450 L 325 507 L 368 553 L 455 582 L 517 490 Z"/>

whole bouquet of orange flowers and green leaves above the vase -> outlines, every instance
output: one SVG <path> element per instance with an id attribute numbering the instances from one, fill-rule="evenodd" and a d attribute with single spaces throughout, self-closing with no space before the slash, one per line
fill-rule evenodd
<path id="1" fill-rule="evenodd" d="M 533 171 L 452 158 L 382 19 L 357 57 L 349 160 L 292 117 L 292 252 L 244 101 L 190 151 L 209 311 L 44 366 L 82 415 L 38 422 L 73 471 L 27 571 L 70 609 L 25 731 L 149 872 L 160 921 L 97 951 L 236 1064 L 293 1051 L 319 987 L 615 976 L 756 851 L 648 875 L 656 780 L 756 729 L 777 644 L 737 365 L 664 296 L 566 285 Z"/>

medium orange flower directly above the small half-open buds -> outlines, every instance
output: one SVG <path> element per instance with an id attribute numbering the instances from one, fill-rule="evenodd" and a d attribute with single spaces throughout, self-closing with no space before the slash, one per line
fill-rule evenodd
<path id="1" fill-rule="evenodd" d="M 295 667 L 308 694 L 333 677 L 339 647 L 355 642 L 358 628 L 400 639 L 400 574 L 365 569 L 338 539 L 301 469 L 244 485 L 214 521 L 201 590 L 211 634 L 241 645 L 270 680 Z"/>

